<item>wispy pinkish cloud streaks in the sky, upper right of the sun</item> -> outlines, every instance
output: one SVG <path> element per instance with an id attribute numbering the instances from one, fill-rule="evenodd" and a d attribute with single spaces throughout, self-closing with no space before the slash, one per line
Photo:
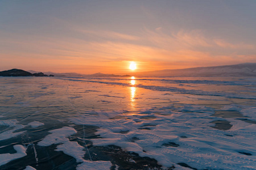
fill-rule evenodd
<path id="1" fill-rule="evenodd" d="M 245 42 L 229 42 L 224 39 L 207 37 L 201 30 L 185 31 L 180 29 L 177 32 L 164 33 L 162 28 L 156 28 L 155 31 L 144 29 L 145 37 L 155 46 L 164 49 L 197 49 L 197 48 L 222 48 L 222 49 L 250 49 L 255 50 L 254 44 L 246 44 Z"/>

